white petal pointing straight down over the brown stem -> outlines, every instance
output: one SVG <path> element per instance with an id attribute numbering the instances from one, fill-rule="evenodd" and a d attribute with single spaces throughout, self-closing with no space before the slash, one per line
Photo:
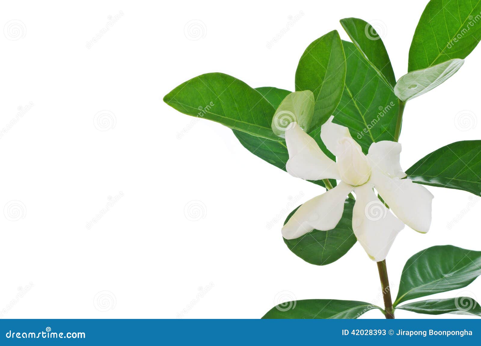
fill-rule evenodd
<path id="1" fill-rule="evenodd" d="M 354 234 L 372 260 L 382 261 L 404 223 L 378 199 L 370 183 L 354 188 L 354 192 Z"/>

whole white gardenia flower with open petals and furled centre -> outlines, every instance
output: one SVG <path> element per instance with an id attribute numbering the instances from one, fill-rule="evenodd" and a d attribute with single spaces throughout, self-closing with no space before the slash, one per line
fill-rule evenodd
<path id="1" fill-rule="evenodd" d="M 296 123 L 285 132 L 289 174 L 309 180 L 341 181 L 301 205 L 282 228 L 282 236 L 295 239 L 314 229 L 333 229 L 342 217 L 344 200 L 354 191 L 354 234 L 371 259 L 382 261 L 405 224 L 421 233 L 429 230 L 433 195 L 424 186 L 402 179 L 406 174 L 399 164 L 401 144 L 372 143 L 365 155 L 349 129 L 332 123 L 332 118 L 322 125 L 321 139 L 337 162 Z M 374 187 L 396 216 L 378 199 Z"/>

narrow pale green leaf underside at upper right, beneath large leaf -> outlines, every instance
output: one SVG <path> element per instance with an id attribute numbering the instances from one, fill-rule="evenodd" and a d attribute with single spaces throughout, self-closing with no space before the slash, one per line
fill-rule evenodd
<path id="1" fill-rule="evenodd" d="M 463 64 L 463 59 L 452 59 L 422 70 L 409 72 L 399 78 L 394 87 L 394 93 L 401 101 L 414 99 L 444 83 Z"/>

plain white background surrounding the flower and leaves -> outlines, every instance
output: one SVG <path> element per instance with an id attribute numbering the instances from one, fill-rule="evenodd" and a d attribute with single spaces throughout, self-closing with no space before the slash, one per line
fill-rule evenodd
<path id="1" fill-rule="evenodd" d="M 307 45 L 332 29 L 347 39 L 338 20 L 352 16 L 375 24 L 399 78 L 427 2 L 3 2 L 0 26 L 14 21 L 20 33 L 0 34 L 1 317 L 259 318 L 296 298 L 382 305 L 376 264 L 359 244 L 318 267 L 288 250 L 282 221 L 268 229 L 287 216 L 290 198 L 301 204 L 322 188 L 162 98 L 207 72 L 293 90 Z M 88 48 L 110 15 L 118 20 Z M 185 32 L 190 21 L 200 32 Z M 481 138 L 480 60 L 477 48 L 454 77 L 407 104 L 405 169 L 443 145 Z M 7 128 L 19 109 L 28 111 Z M 103 112 L 96 123 L 103 110 L 110 117 Z M 467 123 L 458 123 L 460 115 Z M 394 296 L 405 261 L 419 250 L 481 250 L 481 203 L 468 192 L 429 189 L 430 232 L 406 227 L 387 257 Z M 120 194 L 88 229 L 109 196 Z M 200 214 L 192 216 L 191 201 L 200 201 Z M 480 300 L 481 281 L 433 297 L 460 292 Z"/>

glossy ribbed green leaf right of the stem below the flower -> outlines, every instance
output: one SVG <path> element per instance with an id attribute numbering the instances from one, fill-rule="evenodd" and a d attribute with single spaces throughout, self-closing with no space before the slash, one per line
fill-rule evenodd
<path id="1" fill-rule="evenodd" d="M 393 306 L 406 300 L 468 286 L 481 275 L 481 251 L 432 246 L 409 258 Z"/>

